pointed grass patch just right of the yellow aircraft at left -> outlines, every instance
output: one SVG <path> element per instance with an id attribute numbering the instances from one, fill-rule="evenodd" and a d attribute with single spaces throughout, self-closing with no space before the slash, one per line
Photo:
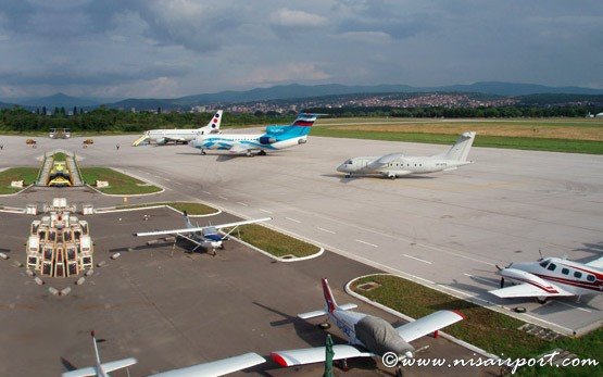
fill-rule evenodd
<path id="1" fill-rule="evenodd" d="M 103 193 L 127 196 L 161 191 L 161 188 L 156 186 L 149 185 L 109 167 L 83 167 L 80 171 L 81 178 L 90 186 L 95 186 L 97 180 L 106 180 L 109 187 L 99 189 Z"/>

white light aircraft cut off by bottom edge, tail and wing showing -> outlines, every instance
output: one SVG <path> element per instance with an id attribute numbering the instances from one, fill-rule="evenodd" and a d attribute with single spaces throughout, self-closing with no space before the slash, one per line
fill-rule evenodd
<path id="1" fill-rule="evenodd" d="M 117 369 L 127 368 L 137 363 L 136 359 L 128 357 L 114 362 L 101 363 L 99 349 L 97 347 L 97 338 L 92 331 L 92 343 L 95 345 L 95 355 L 97 364 L 75 370 L 63 373 L 63 377 L 110 377 L 109 373 Z M 264 363 L 266 360 L 256 353 L 250 352 L 242 355 L 217 360 L 215 362 L 202 363 L 188 366 L 180 369 L 162 372 L 150 377 L 199 377 L 199 376 L 223 376 L 229 373 L 247 369 L 257 364 Z M 128 375 L 129 376 L 129 375 Z"/>

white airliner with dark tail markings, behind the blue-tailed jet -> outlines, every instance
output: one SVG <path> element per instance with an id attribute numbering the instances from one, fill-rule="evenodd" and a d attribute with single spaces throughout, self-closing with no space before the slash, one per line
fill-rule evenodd
<path id="1" fill-rule="evenodd" d="M 133 142 L 133 147 L 138 147 L 143 142 L 154 142 L 158 146 L 163 146 L 168 142 L 174 143 L 188 143 L 194 138 L 209 135 L 218 134 L 219 124 L 222 123 L 222 110 L 216 111 L 212 120 L 206 126 L 201 128 L 174 128 L 174 129 L 150 129 L 146 131 L 140 138 Z"/>

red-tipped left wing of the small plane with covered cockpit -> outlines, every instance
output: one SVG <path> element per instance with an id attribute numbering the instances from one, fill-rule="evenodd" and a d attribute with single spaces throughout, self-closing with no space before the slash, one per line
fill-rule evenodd
<path id="1" fill-rule="evenodd" d="M 332 347 L 332 351 L 335 352 L 332 360 L 375 356 L 372 352 L 349 344 L 336 344 Z M 272 352 L 271 355 L 273 361 L 280 366 L 323 363 L 325 361 L 325 347 L 276 351 Z"/>

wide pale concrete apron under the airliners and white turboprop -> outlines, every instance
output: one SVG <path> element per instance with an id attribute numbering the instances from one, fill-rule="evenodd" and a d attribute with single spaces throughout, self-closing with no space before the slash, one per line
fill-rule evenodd
<path id="1" fill-rule="evenodd" d="M 495 264 L 535 261 L 539 250 L 581 262 L 601 256 L 603 156 L 473 148 L 475 164 L 455 172 L 344 179 L 335 167 L 349 156 L 428 155 L 448 147 L 310 136 L 267 156 L 231 158 L 187 146 L 129 147 L 134 135 L 98 137 L 87 149 L 83 138 L 38 138 L 37 150 L 26 149 L 25 138 L 2 139 L 0 166 L 33 164 L 52 148 L 74 150 L 81 166 L 122 168 L 174 199 L 271 215 L 271 226 L 342 255 L 486 305 L 525 306 L 525 319 L 562 332 L 603 319 L 601 297 L 539 305 L 487 293 L 499 285 Z"/>

